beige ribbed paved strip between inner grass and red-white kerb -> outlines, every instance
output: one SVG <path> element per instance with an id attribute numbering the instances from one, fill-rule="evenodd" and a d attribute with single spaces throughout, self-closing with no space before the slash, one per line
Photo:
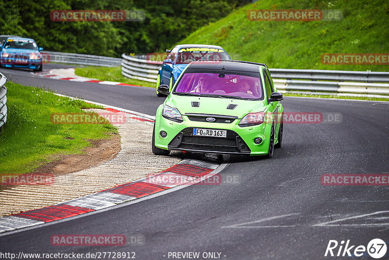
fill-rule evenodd
<path id="1" fill-rule="evenodd" d="M 154 155 L 151 151 L 153 123 L 131 117 L 133 115 L 126 114 L 125 123 L 117 125 L 122 149 L 115 158 L 97 167 L 55 176 L 50 185 L 21 185 L 0 191 L 0 217 L 129 183 L 162 171 L 181 160 L 174 156 Z"/>

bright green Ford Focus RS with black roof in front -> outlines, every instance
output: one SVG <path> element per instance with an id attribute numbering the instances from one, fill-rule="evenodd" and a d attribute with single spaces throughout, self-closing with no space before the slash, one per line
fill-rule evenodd
<path id="1" fill-rule="evenodd" d="M 152 150 L 265 155 L 283 138 L 283 95 L 265 64 L 195 61 L 184 69 L 157 110 Z"/>

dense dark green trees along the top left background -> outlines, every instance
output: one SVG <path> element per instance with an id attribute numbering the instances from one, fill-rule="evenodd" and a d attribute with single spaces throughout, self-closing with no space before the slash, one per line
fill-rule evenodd
<path id="1" fill-rule="evenodd" d="M 32 37 L 48 51 L 120 56 L 170 48 L 249 0 L 5 0 L 0 34 Z M 143 10 L 142 22 L 52 21 L 52 10 Z"/>

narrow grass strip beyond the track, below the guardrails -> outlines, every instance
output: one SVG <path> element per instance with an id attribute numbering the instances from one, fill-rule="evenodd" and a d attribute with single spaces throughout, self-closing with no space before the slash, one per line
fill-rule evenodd
<path id="1" fill-rule="evenodd" d="M 124 77 L 122 75 L 121 67 L 88 66 L 83 68 L 76 68 L 75 74 L 82 77 L 97 78 L 99 80 L 115 81 L 131 85 L 155 88 L 155 83 Z"/>

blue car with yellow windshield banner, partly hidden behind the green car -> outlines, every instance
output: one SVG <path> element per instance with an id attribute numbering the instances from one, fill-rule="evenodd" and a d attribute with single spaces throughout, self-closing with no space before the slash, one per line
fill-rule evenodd
<path id="1" fill-rule="evenodd" d="M 230 60 L 230 56 L 220 46 L 204 44 L 181 44 L 172 50 L 166 50 L 168 55 L 159 69 L 157 77 L 157 96 L 166 96 L 158 92 L 159 85 L 169 85 L 170 90 L 178 76 L 192 61 L 197 60 Z"/>

